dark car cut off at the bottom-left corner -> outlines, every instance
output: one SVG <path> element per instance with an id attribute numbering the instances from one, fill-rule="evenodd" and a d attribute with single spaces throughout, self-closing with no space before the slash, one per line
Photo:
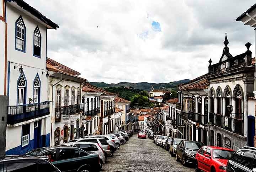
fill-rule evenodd
<path id="1" fill-rule="evenodd" d="M 48 156 L 8 155 L 0 157 L 0 171 L 8 169 L 8 171 L 18 172 L 61 172 L 48 162 L 48 159 Z"/>

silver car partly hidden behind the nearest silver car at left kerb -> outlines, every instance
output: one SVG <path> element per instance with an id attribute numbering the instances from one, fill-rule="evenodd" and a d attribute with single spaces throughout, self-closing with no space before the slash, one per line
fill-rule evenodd
<path id="1" fill-rule="evenodd" d="M 101 137 L 101 138 L 79 138 L 79 139 L 73 139 L 70 140 L 68 143 L 70 142 L 92 142 L 92 143 L 98 143 L 102 149 L 105 150 L 111 150 L 110 153 L 108 153 L 108 156 L 113 156 L 114 151 L 116 151 L 116 147 L 112 147 L 110 144 L 107 143 L 107 141 L 105 140 L 105 138 Z"/>

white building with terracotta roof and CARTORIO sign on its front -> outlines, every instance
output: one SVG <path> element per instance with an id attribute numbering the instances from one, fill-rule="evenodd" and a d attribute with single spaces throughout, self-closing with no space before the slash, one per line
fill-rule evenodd
<path id="1" fill-rule="evenodd" d="M 50 112 L 52 116 L 52 136 L 50 145 L 59 145 L 69 140 L 79 138 L 81 130 L 81 113 L 84 104 L 81 103 L 81 88 L 87 82 L 80 78 L 79 72 L 47 58 L 49 71 L 49 100 L 52 101 Z"/>

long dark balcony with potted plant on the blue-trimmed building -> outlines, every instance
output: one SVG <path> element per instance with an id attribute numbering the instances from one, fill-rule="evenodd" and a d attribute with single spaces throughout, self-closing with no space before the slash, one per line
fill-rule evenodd
<path id="1" fill-rule="evenodd" d="M 8 106 L 7 124 L 17 124 L 50 114 L 50 102 Z"/>

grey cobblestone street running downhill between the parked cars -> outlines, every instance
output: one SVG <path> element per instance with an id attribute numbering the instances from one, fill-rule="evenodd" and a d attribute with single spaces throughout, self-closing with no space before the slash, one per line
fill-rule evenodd
<path id="1" fill-rule="evenodd" d="M 107 158 L 102 172 L 194 172 L 193 167 L 184 167 L 153 140 L 138 139 L 134 134 L 129 141 Z"/>

